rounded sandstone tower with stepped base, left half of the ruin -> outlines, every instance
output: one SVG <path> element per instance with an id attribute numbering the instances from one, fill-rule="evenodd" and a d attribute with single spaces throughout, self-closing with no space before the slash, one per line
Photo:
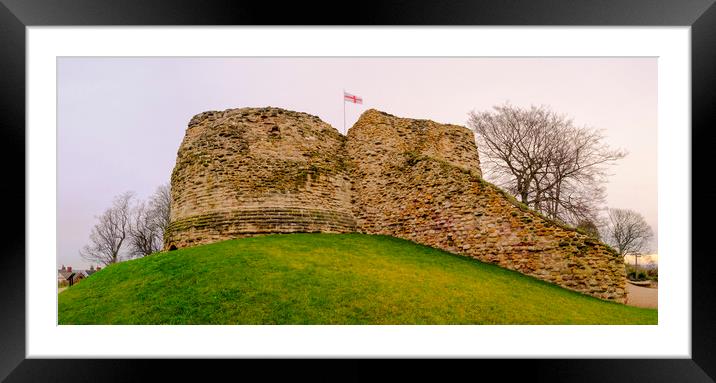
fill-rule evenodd
<path id="1" fill-rule="evenodd" d="M 355 231 L 345 137 L 276 108 L 198 114 L 172 172 L 166 248 L 261 233 Z"/>

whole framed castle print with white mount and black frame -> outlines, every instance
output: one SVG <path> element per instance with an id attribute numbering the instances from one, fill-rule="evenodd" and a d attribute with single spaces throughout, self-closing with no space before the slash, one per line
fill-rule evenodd
<path id="1" fill-rule="evenodd" d="M 344 16 L 347 26 L 330 26 L 297 4 L 3 0 L 6 207 L 24 218 L 7 223 L 0 261 L 0 376 L 138 380 L 147 366 L 169 367 L 131 358 L 462 358 L 510 379 L 714 380 L 714 262 L 704 249 L 712 1 L 360 4 Z M 515 85 L 528 78 L 532 88 Z M 333 88 L 342 100 L 326 96 Z M 556 113 L 520 109 L 532 100 L 562 103 Z M 467 123 L 450 110 L 475 105 L 484 112 Z M 561 129 L 535 144 L 553 157 L 587 137 L 597 161 L 624 158 L 578 126 L 598 121 L 623 140 L 614 147 L 646 158 L 630 174 L 648 182 L 625 188 L 622 206 L 648 211 L 661 283 L 642 256 L 651 249 L 607 245 L 605 235 L 618 235 L 585 213 L 607 170 L 583 175 L 594 187 L 579 189 L 549 173 L 564 157 L 545 160 L 552 167 L 530 176 L 536 192 L 496 173 L 514 163 L 485 156 L 501 153 L 491 124 L 514 116 Z M 121 148 L 132 156 L 103 161 Z M 159 179 L 141 164 L 166 158 L 176 162 L 161 166 L 165 189 L 120 195 L 87 223 L 129 174 Z M 604 227 L 630 211 L 617 210 Z M 117 262 L 128 253 L 100 243 L 116 219 L 136 260 Z M 357 248 L 359 258 L 335 256 Z M 59 254 L 75 250 L 88 263 Z M 285 257 L 301 251 L 300 261 Z M 480 263 L 463 268 L 470 257 Z M 361 279 L 369 274 L 379 278 Z M 152 292 L 160 285 L 176 289 Z M 116 300 L 88 303 L 98 291 Z M 518 300 L 537 303 L 505 309 Z"/>

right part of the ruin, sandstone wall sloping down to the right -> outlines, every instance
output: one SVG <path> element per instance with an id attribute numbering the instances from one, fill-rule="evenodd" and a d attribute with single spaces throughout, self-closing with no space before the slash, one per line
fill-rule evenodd
<path id="1" fill-rule="evenodd" d="M 447 140 L 456 150 L 444 153 L 433 149 L 443 142 L 436 137 L 462 141 Z M 353 168 L 353 214 L 361 231 L 408 239 L 624 301 L 621 259 L 598 241 L 543 219 L 482 180 L 468 129 L 370 110 L 348 132 L 347 150 Z"/>

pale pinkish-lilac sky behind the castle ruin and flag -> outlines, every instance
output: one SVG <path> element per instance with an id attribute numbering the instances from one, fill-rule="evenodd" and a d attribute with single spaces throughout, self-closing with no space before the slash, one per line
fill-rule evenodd
<path id="1" fill-rule="evenodd" d="M 629 155 L 611 168 L 607 206 L 657 233 L 655 58 L 58 58 L 57 265 L 78 254 L 112 198 L 168 183 L 191 117 L 274 106 L 343 130 L 368 108 L 465 125 L 471 110 L 548 105 L 603 129 Z M 489 181 L 489 179 L 488 179 Z M 656 241 L 652 249 L 656 251 Z"/>

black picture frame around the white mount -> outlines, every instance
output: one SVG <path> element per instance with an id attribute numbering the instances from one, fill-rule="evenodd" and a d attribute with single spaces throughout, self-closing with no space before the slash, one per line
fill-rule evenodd
<path id="1" fill-rule="evenodd" d="M 236 371 L 236 361 L 40 360 L 26 359 L 25 348 L 25 44 L 27 26 L 61 25 L 553 25 L 553 26 L 690 26 L 692 69 L 692 327 L 691 359 L 523 359 L 471 360 L 439 371 L 441 380 L 462 373 L 499 372 L 531 381 L 714 382 L 716 378 L 716 264 L 707 251 L 710 187 L 716 107 L 716 6 L 714 0 L 502 0 L 489 2 L 393 1 L 373 3 L 305 3 L 276 6 L 269 2 L 0 0 L 0 115 L 2 116 L 6 228 L 0 256 L 0 379 L 7 381 L 142 381 L 147 369 L 205 377 L 221 369 Z M 328 10 L 329 12 L 325 12 Z M 330 14 L 330 13 L 333 14 Z M 21 203 L 24 202 L 24 203 Z M 9 214 L 9 216 L 8 216 Z M 8 224 L 9 223 L 9 224 Z M 684 254 L 685 261 L 688 254 Z M 79 340 L 78 340 L 79 341 Z M 92 341 L 92 340 L 82 340 Z M 274 377 L 285 374 L 321 380 L 373 380 L 361 361 L 337 361 L 341 375 L 305 361 L 277 369 L 243 363 L 248 370 Z M 179 368 L 170 364 L 181 364 Z M 188 363 L 188 364 L 187 364 Z M 271 364 L 275 364 L 275 361 Z M 406 369 L 383 363 L 381 378 L 428 377 L 424 364 Z M 217 369 L 219 367 L 219 369 Z M 234 375 L 232 375 L 234 376 Z M 165 378 L 168 378 L 165 375 Z M 487 375 L 485 375 L 487 377 Z"/>

